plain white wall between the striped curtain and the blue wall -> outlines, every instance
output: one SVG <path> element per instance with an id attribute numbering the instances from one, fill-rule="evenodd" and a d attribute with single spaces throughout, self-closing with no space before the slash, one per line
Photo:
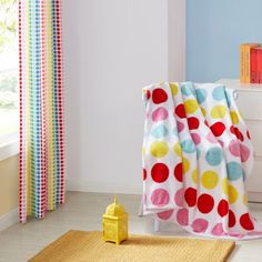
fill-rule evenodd
<path id="1" fill-rule="evenodd" d="M 183 26 L 183 0 L 63 1 L 70 190 L 142 191 L 141 89 L 184 78 Z"/>

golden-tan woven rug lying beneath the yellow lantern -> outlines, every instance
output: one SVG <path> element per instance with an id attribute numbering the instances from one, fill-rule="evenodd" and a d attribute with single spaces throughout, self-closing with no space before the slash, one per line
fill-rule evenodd
<path id="1" fill-rule="evenodd" d="M 220 262 L 234 249 L 233 241 L 129 235 L 120 245 L 104 243 L 102 232 L 69 231 L 40 251 L 37 262 Z"/>

